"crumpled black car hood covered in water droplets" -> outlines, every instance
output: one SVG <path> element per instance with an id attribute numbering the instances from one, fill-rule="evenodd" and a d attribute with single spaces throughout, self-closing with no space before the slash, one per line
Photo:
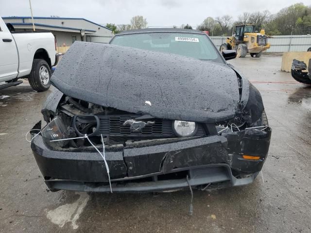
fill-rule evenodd
<path id="1" fill-rule="evenodd" d="M 105 107 L 198 122 L 233 117 L 240 98 L 236 73 L 225 64 L 90 42 L 70 47 L 51 82 Z"/>

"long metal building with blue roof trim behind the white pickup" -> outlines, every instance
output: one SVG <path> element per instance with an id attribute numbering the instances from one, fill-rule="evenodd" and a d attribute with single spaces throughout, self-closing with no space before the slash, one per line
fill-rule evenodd
<path id="1" fill-rule="evenodd" d="M 2 17 L 16 31 L 32 31 L 31 17 Z M 107 43 L 113 36 L 112 30 L 85 18 L 34 17 L 35 30 L 49 30 L 56 39 L 57 51 L 66 52 L 76 40 Z"/>

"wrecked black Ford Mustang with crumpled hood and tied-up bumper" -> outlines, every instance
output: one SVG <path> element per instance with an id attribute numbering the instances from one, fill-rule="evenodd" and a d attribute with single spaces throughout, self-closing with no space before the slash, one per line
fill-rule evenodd
<path id="1" fill-rule="evenodd" d="M 259 91 L 226 63 L 235 56 L 193 30 L 75 42 L 52 76 L 47 125 L 32 131 L 47 186 L 108 192 L 110 182 L 113 192 L 143 192 L 251 183 L 271 128 Z"/>

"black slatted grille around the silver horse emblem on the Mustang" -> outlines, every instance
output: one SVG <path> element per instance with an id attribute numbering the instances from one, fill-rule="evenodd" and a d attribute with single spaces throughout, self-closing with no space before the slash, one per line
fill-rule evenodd
<path id="1" fill-rule="evenodd" d="M 157 137 L 175 137 L 172 128 L 172 120 L 167 119 L 152 119 L 153 125 L 146 125 L 139 132 L 132 132 L 129 125 L 123 125 L 126 120 L 135 119 L 140 115 L 98 115 L 100 119 L 99 133 L 109 138 L 157 138 Z M 147 122 L 147 120 L 143 120 Z M 198 136 L 205 135 L 202 126 L 199 124 Z"/>

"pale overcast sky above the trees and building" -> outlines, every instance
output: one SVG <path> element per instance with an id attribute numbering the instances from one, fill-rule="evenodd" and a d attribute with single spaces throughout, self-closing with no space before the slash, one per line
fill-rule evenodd
<path id="1" fill-rule="evenodd" d="M 0 16 L 30 16 L 28 0 L 0 0 Z M 133 16 L 147 18 L 148 26 L 199 25 L 206 17 L 244 11 L 272 14 L 296 2 L 310 0 L 31 0 L 34 16 L 83 17 L 96 23 L 128 24 Z M 230 3 L 229 3 L 230 2 Z"/>

